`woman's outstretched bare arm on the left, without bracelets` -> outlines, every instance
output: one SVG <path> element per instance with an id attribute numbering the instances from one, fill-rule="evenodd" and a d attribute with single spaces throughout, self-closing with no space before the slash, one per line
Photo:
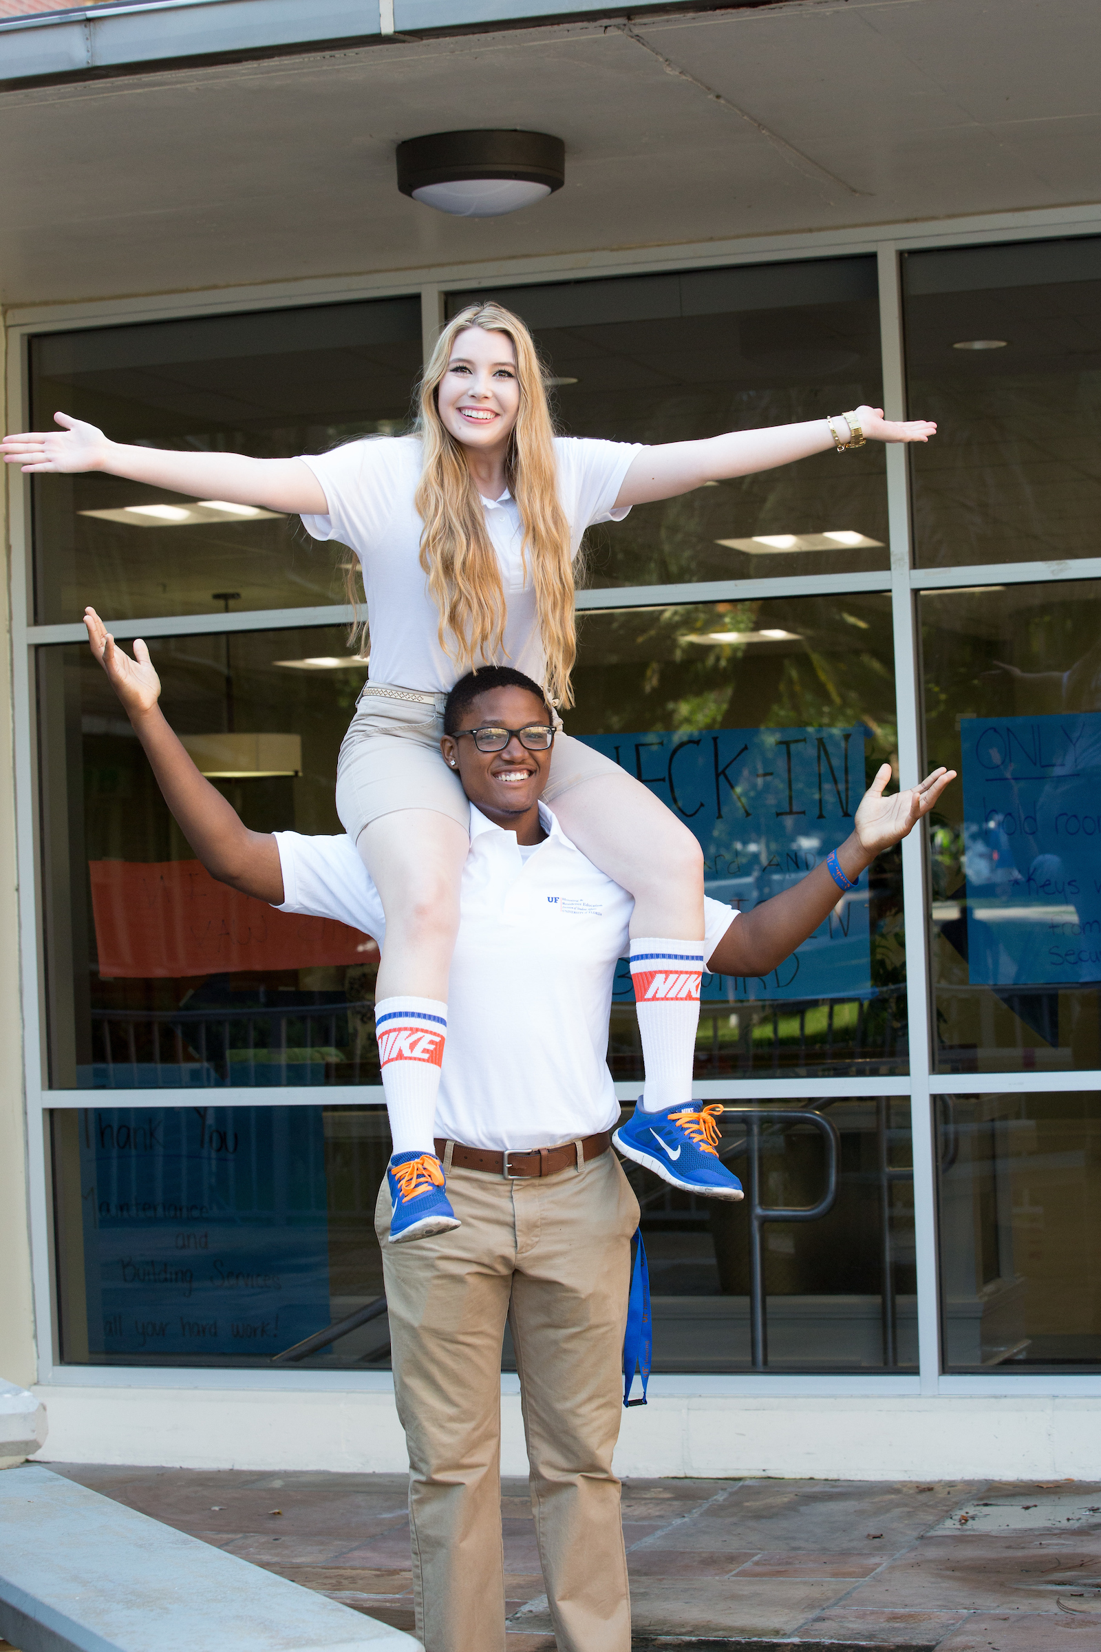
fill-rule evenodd
<path id="1" fill-rule="evenodd" d="M 244 453 L 172 453 L 109 441 L 94 425 L 54 413 L 61 430 L 23 431 L 0 443 L 5 464 L 48 474 L 106 471 L 193 499 L 325 515 L 322 484 L 300 459 L 251 459 Z"/>

